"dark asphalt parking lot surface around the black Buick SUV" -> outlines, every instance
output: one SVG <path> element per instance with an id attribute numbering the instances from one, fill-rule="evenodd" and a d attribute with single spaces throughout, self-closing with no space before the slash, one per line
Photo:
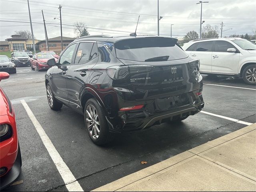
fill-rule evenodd
<path id="1" fill-rule="evenodd" d="M 208 114 L 200 112 L 180 123 L 163 123 L 146 130 L 128 132 L 108 146 L 99 147 L 90 141 L 83 116 L 66 106 L 59 112 L 50 109 L 44 84 L 45 73 L 20 67 L 17 74 L 11 74 L 8 80 L 0 82 L 14 105 L 22 154 L 22 174 L 18 180 L 21 182 L 6 188 L 6 191 L 68 191 L 20 100 L 28 105 L 77 185 L 84 191 L 234 132 L 245 127 L 246 123 L 256 122 L 255 86 L 244 84 L 242 79 L 203 76 L 203 111 Z M 148 164 L 141 164 L 141 161 Z"/>

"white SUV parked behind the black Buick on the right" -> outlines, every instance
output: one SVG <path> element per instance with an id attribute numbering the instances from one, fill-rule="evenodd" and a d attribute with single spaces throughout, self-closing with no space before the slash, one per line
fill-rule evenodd
<path id="1" fill-rule="evenodd" d="M 192 40 L 182 46 L 191 57 L 200 59 L 201 74 L 242 77 L 256 85 L 256 44 L 242 38 Z"/>

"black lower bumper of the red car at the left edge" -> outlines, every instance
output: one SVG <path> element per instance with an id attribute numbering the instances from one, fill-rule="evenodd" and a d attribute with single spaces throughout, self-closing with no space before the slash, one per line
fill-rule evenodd
<path id="1" fill-rule="evenodd" d="M 12 166 L 11 170 L 6 173 L 0 179 L 0 190 L 10 186 L 14 183 L 19 177 L 21 173 L 21 155 L 20 155 L 20 148 L 18 148 L 18 155 Z"/>

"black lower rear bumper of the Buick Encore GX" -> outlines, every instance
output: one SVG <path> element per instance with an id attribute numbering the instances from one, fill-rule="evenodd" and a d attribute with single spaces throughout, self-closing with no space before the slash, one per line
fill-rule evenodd
<path id="1" fill-rule="evenodd" d="M 195 91 L 195 92 L 198 92 Z M 204 108 L 204 100 L 202 95 L 196 96 L 195 92 L 187 93 L 190 96 L 192 102 L 179 107 L 173 107 L 173 109 L 163 111 L 153 111 L 159 109 L 156 106 L 156 102 L 150 101 L 145 104 L 145 107 L 141 110 L 134 110 L 128 112 L 118 112 L 117 118 L 108 119 L 111 132 L 121 133 L 133 130 L 142 130 L 149 128 L 150 126 L 167 122 L 168 120 L 176 120 L 186 116 L 197 114 Z M 193 97 L 191 95 L 194 95 Z M 166 102 L 166 100 L 164 100 Z M 172 108 L 172 107 L 171 107 Z"/>

